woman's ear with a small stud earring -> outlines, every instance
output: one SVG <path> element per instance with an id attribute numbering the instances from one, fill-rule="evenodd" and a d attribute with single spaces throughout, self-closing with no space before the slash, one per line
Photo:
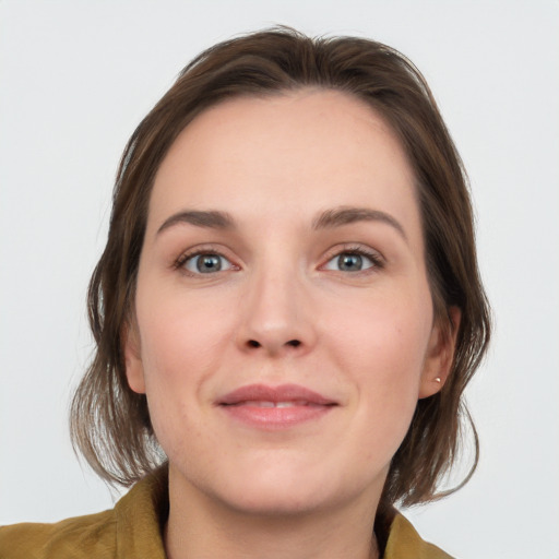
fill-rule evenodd
<path id="1" fill-rule="evenodd" d="M 447 382 L 460 328 L 462 312 L 457 307 L 449 308 L 450 324 L 433 324 L 421 371 L 419 400 L 432 396 Z"/>

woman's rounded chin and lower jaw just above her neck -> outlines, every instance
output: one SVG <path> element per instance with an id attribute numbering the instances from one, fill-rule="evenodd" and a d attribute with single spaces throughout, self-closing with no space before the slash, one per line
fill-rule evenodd
<path id="1" fill-rule="evenodd" d="M 366 462 L 354 461 L 349 468 L 345 461 L 318 452 L 309 456 L 300 450 L 259 451 L 229 454 L 227 461 L 213 461 L 213 467 L 191 469 L 183 463 L 177 469 L 189 502 L 201 500 L 200 504 L 205 501 L 254 518 L 280 518 L 342 509 L 353 501 L 376 502 L 385 472 Z M 353 475 L 347 475 L 348 469 Z"/>

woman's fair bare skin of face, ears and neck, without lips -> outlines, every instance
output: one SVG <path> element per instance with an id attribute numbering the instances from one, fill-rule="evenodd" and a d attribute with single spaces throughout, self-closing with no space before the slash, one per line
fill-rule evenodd
<path id="1" fill-rule="evenodd" d="M 313 227 L 341 207 L 389 218 Z M 168 222 L 186 210 L 235 225 Z M 341 269 L 356 250 L 362 270 Z M 222 270 L 198 272 L 195 251 Z M 453 352 L 433 322 L 414 176 L 377 114 L 308 90 L 198 116 L 155 179 L 134 322 L 127 376 L 169 459 L 171 559 L 376 557 L 390 460 Z M 252 383 L 336 405 L 261 429 L 216 405 Z"/>

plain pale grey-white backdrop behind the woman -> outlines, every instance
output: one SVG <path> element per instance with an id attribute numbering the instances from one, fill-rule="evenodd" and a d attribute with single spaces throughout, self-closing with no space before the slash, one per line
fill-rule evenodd
<path id="1" fill-rule="evenodd" d="M 559 2 L 0 0 L 0 523 L 112 506 L 69 442 L 120 153 L 201 49 L 276 23 L 425 73 L 468 169 L 496 317 L 468 486 L 407 511 L 462 559 L 559 557 Z"/>

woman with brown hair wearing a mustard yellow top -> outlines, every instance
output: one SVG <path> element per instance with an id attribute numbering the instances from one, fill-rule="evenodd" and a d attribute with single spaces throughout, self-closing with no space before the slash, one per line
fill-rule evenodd
<path id="1" fill-rule="evenodd" d="M 443 495 L 488 307 L 399 52 L 281 28 L 199 56 L 124 151 L 90 319 L 74 442 L 136 485 L 2 557 L 449 557 L 394 506 Z"/>

